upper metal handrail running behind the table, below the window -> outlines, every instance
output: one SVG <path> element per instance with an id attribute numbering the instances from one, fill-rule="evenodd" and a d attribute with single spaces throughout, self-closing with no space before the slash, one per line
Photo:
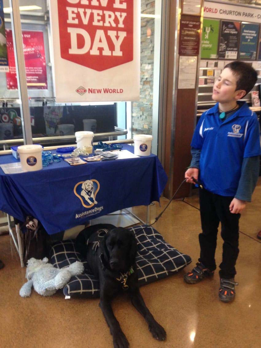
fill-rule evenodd
<path id="1" fill-rule="evenodd" d="M 118 136 L 118 135 L 126 135 L 128 133 L 127 129 L 121 129 L 118 127 L 114 127 L 114 132 L 105 132 L 105 133 L 94 133 L 94 139 L 95 138 L 102 138 L 102 137 L 110 137 L 110 136 Z M 46 143 L 53 140 L 75 140 L 75 135 L 57 135 L 57 136 L 44 136 L 44 137 L 38 137 L 33 138 L 33 143 Z M 9 145 L 16 145 L 16 144 L 23 144 L 23 139 L 7 139 L 7 140 L 0 140 L 1 144 L 9 144 Z"/>

